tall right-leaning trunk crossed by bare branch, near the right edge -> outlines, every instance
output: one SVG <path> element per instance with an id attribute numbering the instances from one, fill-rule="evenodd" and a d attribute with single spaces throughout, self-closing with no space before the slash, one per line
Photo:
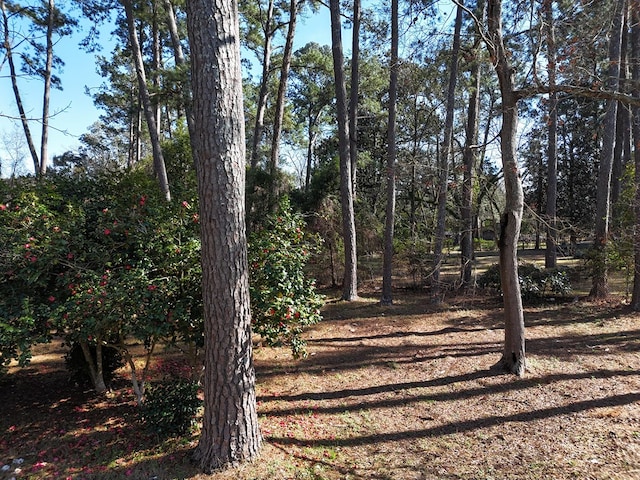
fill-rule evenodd
<path id="1" fill-rule="evenodd" d="M 615 17 L 609 40 L 609 78 L 607 88 L 615 92 L 620 80 L 620 49 L 622 44 L 622 19 L 624 16 L 625 0 L 616 3 Z M 593 245 L 592 286 L 589 296 L 592 298 L 606 298 L 609 294 L 607 242 L 609 237 L 609 215 L 611 194 L 611 167 L 616 138 L 616 117 L 618 102 L 607 100 L 607 111 L 604 119 L 604 133 L 602 136 L 602 154 L 598 169 L 598 183 L 596 194 L 596 225 Z"/>

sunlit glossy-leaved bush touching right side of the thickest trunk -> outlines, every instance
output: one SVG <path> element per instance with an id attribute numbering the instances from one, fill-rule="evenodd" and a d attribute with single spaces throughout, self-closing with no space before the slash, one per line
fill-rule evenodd
<path id="1" fill-rule="evenodd" d="M 269 345 L 290 346 L 304 356 L 303 328 L 321 320 L 324 297 L 305 277 L 317 238 L 304 232 L 302 216 L 285 198 L 249 240 L 252 325 Z"/>

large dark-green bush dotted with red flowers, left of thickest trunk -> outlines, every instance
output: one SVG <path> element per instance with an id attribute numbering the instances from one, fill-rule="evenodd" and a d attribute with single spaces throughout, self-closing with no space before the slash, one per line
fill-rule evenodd
<path id="1" fill-rule="evenodd" d="M 21 179 L 0 191 L 0 355 L 133 337 L 202 344 L 197 203 L 145 172 Z"/>

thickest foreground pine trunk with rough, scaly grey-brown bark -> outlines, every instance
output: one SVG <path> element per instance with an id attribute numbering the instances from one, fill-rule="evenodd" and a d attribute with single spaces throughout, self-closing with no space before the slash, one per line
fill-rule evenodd
<path id="1" fill-rule="evenodd" d="M 258 429 L 245 225 L 245 127 L 234 0 L 188 0 L 200 197 L 205 411 L 194 458 L 213 472 L 255 459 Z"/>

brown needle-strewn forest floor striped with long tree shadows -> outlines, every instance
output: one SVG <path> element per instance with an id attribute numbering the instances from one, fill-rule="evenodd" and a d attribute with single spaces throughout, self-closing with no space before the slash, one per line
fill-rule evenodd
<path id="1" fill-rule="evenodd" d="M 39 346 L 0 382 L 0 479 L 640 479 L 640 316 L 622 297 L 527 305 L 522 378 L 492 368 L 499 296 L 378 300 L 329 298 L 305 359 L 255 349 L 262 454 L 210 476 L 197 431 L 147 433 L 126 371 L 98 397 L 60 342 Z"/>

